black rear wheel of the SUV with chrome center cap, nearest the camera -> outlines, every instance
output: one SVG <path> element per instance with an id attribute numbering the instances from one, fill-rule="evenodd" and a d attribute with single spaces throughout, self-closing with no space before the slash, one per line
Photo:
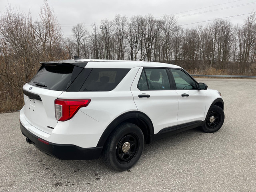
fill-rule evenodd
<path id="1" fill-rule="evenodd" d="M 124 123 L 112 132 L 104 147 L 103 159 L 114 170 L 128 170 L 140 159 L 143 147 L 142 130 L 135 124 Z"/>

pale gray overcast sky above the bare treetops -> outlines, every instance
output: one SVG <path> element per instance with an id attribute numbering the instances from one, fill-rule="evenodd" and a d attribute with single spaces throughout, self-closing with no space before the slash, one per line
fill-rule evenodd
<path id="1" fill-rule="evenodd" d="M 206 25 L 206 20 L 226 18 L 233 24 L 242 23 L 248 13 L 256 11 L 254 0 L 48 0 L 53 8 L 65 36 L 72 35 L 71 28 L 84 23 L 90 31 L 90 25 L 108 18 L 113 20 L 116 14 L 131 16 L 152 14 L 160 18 L 164 14 L 174 14 L 179 25 L 192 28 L 198 24 Z M 3 15 L 9 5 L 24 13 L 30 10 L 33 20 L 39 19 L 38 13 L 43 0 L 0 0 L 0 13 Z M 246 14 L 242 16 L 236 16 Z M 201 23 L 196 23 L 201 22 Z M 196 24 L 191 24 L 196 23 Z M 188 25 L 189 24 L 189 25 Z"/>

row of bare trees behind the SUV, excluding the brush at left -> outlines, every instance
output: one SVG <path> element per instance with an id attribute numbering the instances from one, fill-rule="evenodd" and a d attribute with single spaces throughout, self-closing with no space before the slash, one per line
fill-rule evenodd
<path id="1" fill-rule="evenodd" d="M 166 62 L 187 70 L 204 72 L 209 68 L 228 74 L 255 74 L 256 16 L 233 25 L 216 19 L 206 26 L 182 28 L 175 16 L 160 19 L 152 15 L 116 15 L 114 20 L 72 28 L 73 37 L 64 38 L 69 58 L 117 59 Z"/>

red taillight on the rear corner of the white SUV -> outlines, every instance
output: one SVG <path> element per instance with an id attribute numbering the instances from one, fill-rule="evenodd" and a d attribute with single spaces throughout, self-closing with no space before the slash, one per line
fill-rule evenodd
<path id="1" fill-rule="evenodd" d="M 71 119 L 81 107 L 86 107 L 90 103 L 90 99 L 56 99 L 55 118 L 58 121 L 66 121 Z"/>

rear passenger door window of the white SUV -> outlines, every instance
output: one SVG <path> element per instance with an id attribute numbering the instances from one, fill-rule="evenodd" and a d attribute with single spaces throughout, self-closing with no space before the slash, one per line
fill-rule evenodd
<path id="1" fill-rule="evenodd" d="M 144 68 L 138 82 L 139 90 L 170 90 L 170 82 L 164 68 Z"/>

